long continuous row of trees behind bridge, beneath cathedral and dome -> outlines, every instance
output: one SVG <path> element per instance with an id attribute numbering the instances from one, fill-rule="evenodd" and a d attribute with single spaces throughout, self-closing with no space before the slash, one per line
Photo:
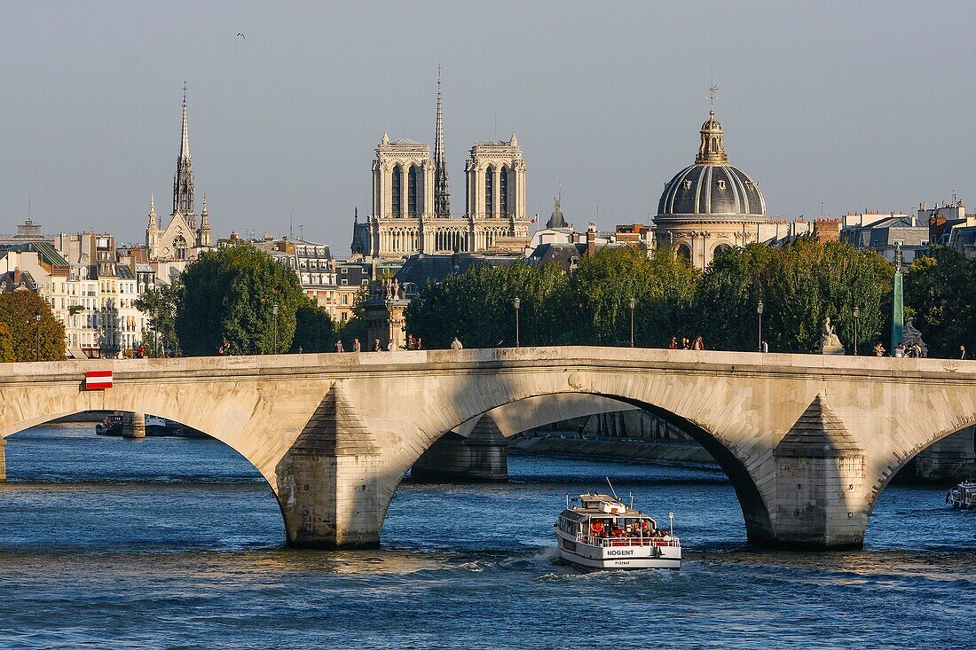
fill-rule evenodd
<path id="1" fill-rule="evenodd" d="M 519 299 L 521 345 L 630 345 L 630 300 L 638 346 L 671 337 L 703 337 L 708 348 L 758 346 L 756 306 L 770 349 L 819 349 L 830 317 L 845 345 L 880 340 L 890 305 L 893 267 L 874 252 L 800 237 L 793 244 L 752 244 L 714 260 L 704 273 L 660 248 L 603 248 L 566 274 L 556 264 L 476 264 L 427 283 L 407 309 L 407 330 L 427 347 L 459 337 L 468 347 L 514 345 Z"/>

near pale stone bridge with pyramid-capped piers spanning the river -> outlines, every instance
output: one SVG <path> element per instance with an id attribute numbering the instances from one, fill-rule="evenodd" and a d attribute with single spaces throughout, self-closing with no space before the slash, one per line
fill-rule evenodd
<path id="1" fill-rule="evenodd" d="M 88 370 L 114 386 L 85 390 Z M 446 431 L 522 400 L 519 427 L 541 426 L 591 395 L 704 445 L 752 543 L 849 548 L 900 467 L 976 423 L 974 380 L 972 361 L 569 346 L 19 363 L 0 365 L 0 438 L 89 410 L 163 416 L 258 468 L 291 545 L 375 546 Z"/>

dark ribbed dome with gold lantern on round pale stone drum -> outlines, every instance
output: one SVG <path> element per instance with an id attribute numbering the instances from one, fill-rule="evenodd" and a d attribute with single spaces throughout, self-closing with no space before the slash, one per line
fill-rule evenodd
<path id="1" fill-rule="evenodd" d="M 654 218 L 657 244 L 672 246 L 696 268 L 704 269 L 723 250 L 757 241 L 759 224 L 766 221 L 766 201 L 759 185 L 729 164 L 722 125 L 711 108 L 702 125 L 695 164 L 665 183 Z"/>

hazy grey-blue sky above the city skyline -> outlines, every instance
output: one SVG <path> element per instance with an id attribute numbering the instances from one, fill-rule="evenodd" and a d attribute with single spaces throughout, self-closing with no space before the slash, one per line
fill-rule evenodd
<path id="1" fill-rule="evenodd" d="M 527 207 L 646 222 L 693 162 L 709 87 L 773 218 L 976 206 L 976 3 L 0 0 L 0 231 L 167 223 L 183 83 L 216 237 L 348 254 L 384 131 L 432 145 L 454 212 L 473 142 L 518 135 Z M 243 33 L 244 37 L 237 34 Z"/>

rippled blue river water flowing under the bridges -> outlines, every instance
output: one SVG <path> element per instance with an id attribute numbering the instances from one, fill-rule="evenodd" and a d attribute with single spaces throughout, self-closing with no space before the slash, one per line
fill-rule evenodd
<path id="1" fill-rule="evenodd" d="M 509 458 L 506 485 L 404 483 L 384 546 L 284 548 L 257 471 L 213 440 L 37 427 L 0 485 L 2 648 L 971 647 L 976 512 L 892 486 L 865 549 L 746 545 L 718 470 Z M 554 562 L 566 493 L 675 513 L 679 572 Z"/>

